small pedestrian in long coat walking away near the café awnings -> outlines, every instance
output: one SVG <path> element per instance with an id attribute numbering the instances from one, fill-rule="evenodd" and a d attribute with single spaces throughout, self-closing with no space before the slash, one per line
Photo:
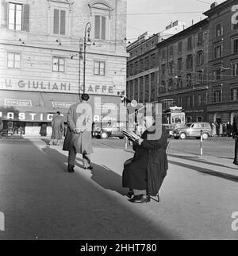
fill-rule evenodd
<path id="1" fill-rule="evenodd" d="M 60 112 L 58 111 L 52 119 L 52 137 L 49 145 L 59 145 L 59 140 L 61 140 L 63 136 L 63 127 L 63 116 L 61 116 Z"/>

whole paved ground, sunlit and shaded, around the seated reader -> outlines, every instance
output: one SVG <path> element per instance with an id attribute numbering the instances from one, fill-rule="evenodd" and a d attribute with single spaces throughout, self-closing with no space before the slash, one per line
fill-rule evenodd
<path id="1" fill-rule="evenodd" d="M 79 155 L 75 173 L 67 173 L 61 145 L 2 139 L 0 239 L 238 239 L 232 139 L 205 142 L 213 153 L 204 157 L 195 156 L 197 140 L 171 140 L 161 202 L 149 204 L 131 204 L 121 188 L 123 163 L 132 157 L 124 143 L 95 139 L 94 169 L 83 170 Z"/>

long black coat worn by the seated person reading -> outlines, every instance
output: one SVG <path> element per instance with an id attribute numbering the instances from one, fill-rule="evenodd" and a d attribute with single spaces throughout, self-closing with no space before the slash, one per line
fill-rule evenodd
<path id="1" fill-rule="evenodd" d="M 156 196 L 167 175 L 167 134 L 163 126 L 162 136 L 148 139 L 155 134 L 155 126 L 146 130 L 141 138 L 141 145 L 133 144 L 136 151 L 132 162 L 125 165 L 122 174 L 122 185 L 125 188 L 147 190 L 149 196 Z"/>

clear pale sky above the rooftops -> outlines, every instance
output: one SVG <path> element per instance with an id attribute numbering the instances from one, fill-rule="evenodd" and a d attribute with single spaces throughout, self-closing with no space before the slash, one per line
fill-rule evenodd
<path id="1" fill-rule="evenodd" d="M 197 23 L 205 18 L 202 13 L 209 10 L 213 2 L 215 0 L 127 0 L 127 39 L 135 41 L 146 31 L 162 32 L 171 21 L 185 21 L 189 27 L 192 20 Z M 225 0 L 216 2 L 220 4 Z"/>

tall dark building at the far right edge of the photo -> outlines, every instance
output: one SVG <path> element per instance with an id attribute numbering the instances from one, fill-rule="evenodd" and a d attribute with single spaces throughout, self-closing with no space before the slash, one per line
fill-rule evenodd
<path id="1" fill-rule="evenodd" d="M 238 2 L 214 3 L 209 17 L 209 122 L 238 114 Z"/>

